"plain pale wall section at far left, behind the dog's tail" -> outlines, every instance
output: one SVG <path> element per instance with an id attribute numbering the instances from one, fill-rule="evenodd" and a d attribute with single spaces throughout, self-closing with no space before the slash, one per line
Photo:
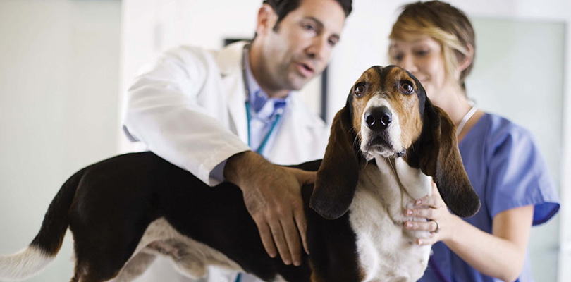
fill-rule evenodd
<path id="1" fill-rule="evenodd" d="M 78 169 L 117 152 L 121 3 L 0 1 L 0 253 L 27 246 Z M 73 276 L 71 236 L 41 278 Z"/>

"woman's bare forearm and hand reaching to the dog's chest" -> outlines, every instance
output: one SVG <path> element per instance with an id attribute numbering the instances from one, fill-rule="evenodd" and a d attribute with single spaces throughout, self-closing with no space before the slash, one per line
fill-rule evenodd
<path id="1" fill-rule="evenodd" d="M 418 238 L 417 245 L 443 241 L 482 274 L 514 281 L 524 264 L 533 214 L 533 205 L 500 212 L 493 218 L 492 233 L 486 233 L 451 214 L 432 183 L 432 195 L 417 200 L 415 208 L 405 210 L 406 216 L 420 220 L 405 222 L 405 228 L 430 232 L 428 238 Z"/>

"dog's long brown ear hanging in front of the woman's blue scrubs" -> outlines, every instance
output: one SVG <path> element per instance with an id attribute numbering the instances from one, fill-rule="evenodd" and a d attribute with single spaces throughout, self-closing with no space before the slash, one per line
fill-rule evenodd
<path id="1" fill-rule="evenodd" d="M 480 200 L 464 170 L 454 123 L 424 95 L 423 128 L 412 146 L 415 152 L 411 157 L 416 159 L 412 161 L 434 178 L 442 199 L 454 214 L 473 216 L 480 209 Z"/>

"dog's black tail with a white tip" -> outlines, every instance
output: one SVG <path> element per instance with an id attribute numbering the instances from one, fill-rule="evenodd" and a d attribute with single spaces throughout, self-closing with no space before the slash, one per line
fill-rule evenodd
<path id="1" fill-rule="evenodd" d="M 18 281 L 39 273 L 56 257 L 69 225 L 68 211 L 87 168 L 71 176 L 57 193 L 32 243 L 13 255 L 0 255 L 0 281 Z"/>

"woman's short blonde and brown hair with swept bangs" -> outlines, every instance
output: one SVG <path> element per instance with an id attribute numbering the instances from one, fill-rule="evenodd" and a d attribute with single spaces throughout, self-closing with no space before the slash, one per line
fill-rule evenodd
<path id="1" fill-rule="evenodd" d="M 390 39 L 405 39 L 407 35 L 428 35 L 442 45 L 444 68 L 449 79 L 455 80 L 453 70 L 458 62 L 469 56 L 472 46 L 472 63 L 460 73 L 458 83 L 465 89 L 465 78 L 472 71 L 476 39 L 466 14 L 441 1 L 415 2 L 403 6 Z"/>

